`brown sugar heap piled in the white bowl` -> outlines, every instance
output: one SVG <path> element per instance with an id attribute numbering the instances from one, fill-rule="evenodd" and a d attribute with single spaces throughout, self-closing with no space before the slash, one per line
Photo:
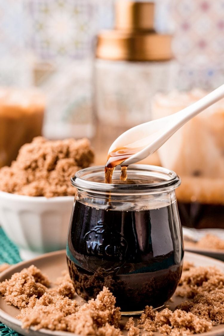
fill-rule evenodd
<path id="1" fill-rule="evenodd" d="M 0 190 L 28 196 L 70 196 L 70 178 L 93 162 L 87 139 L 50 141 L 36 137 L 23 145 L 10 167 L 0 169 Z"/>

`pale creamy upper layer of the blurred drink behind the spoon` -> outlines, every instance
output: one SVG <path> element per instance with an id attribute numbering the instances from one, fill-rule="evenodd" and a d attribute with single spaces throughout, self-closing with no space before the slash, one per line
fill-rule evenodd
<path id="1" fill-rule="evenodd" d="M 153 119 L 178 112 L 207 92 L 157 94 Z M 159 150 L 163 166 L 181 176 L 224 177 L 224 99 L 194 117 Z"/>

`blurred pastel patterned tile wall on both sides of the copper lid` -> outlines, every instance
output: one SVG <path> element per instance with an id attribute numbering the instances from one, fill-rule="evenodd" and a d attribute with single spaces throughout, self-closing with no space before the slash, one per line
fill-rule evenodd
<path id="1" fill-rule="evenodd" d="M 90 56 L 97 31 L 113 26 L 113 3 L 0 0 L 0 84 L 29 84 L 34 62 Z M 173 31 L 174 55 L 186 86 L 223 81 L 224 0 L 157 0 L 156 5 L 156 27 Z"/>

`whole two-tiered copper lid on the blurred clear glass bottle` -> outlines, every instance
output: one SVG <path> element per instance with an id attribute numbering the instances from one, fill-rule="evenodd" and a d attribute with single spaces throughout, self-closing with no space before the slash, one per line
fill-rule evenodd
<path id="1" fill-rule="evenodd" d="M 153 30 L 152 2 L 116 2 L 116 29 L 97 36 L 96 57 L 110 60 L 163 61 L 172 58 L 171 35 Z"/>

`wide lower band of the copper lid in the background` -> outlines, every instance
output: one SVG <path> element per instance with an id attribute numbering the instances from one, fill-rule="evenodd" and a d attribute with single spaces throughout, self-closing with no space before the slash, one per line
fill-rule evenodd
<path id="1" fill-rule="evenodd" d="M 156 33 L 104 31 L 98 35 L 96 57 L 130 61 L 168 60 L 172 58 L 171 38 Z"/>

